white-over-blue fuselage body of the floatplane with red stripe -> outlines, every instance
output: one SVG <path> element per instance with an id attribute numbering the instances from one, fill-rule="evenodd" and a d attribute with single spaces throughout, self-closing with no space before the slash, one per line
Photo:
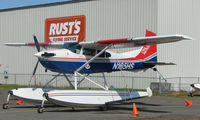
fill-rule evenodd
<path id="1" fill-rule="evenodd" d="M 157 61 L 156 53 L 148 56 L 145 59 L 137 59 L 138 51 L 134 51 L 129 55 L 123 53 L 113 53 L 106 51 L 104 55 L 97 57 L 94 61 L 87 64 L 80 73 L 100 73 L 100 72 L 113 72 L 113 71 L 134 71 L 138 69 L 146 69 L 144 62 Z M 61 72 L 73 74 L 78 68 L 85 64 L 92 58 L 90 55 L 84 55 L 83 53 L 73 53 L 68 49 L 59 49 L 51 51 L 55 53 L 52 57 L 40 58 L 41 64 L 53 72 Z M 135 54 L 135 55 L 134 55 Z"/>

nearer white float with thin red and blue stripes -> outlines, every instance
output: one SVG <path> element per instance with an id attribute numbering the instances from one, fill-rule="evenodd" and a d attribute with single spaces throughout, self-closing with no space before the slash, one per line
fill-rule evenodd
<path id="1" fill-rule="evenodd" d="M 52 90 L 45 92 L 47 100 L 54 104 L 67 107 L 100 107 L 112 102 L 130 100 L 134 98 L 151 97 L 152 91 L 145 92 L 116 91 L 116 90 Z"/>

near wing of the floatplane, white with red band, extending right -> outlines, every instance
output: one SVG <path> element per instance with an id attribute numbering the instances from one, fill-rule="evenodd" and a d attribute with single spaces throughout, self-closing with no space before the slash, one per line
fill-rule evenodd
<path id="1" fill-rule="evenodd" d="M 91 42 L 81 42 L 80 45 L 86 48 L 103 49 L 108 45 L 110 48 L 127 48 L 139 47 L 145 45 L 163 44 L 170 42 L 177 42 L 181 40 L 191 40 L 192 38 L 185 35 L 166 35 L 166 36 L 153 36 L 153 37 L 139 37 L 139 38 L 123 38 L 111 40 L 99 40 Z"/>

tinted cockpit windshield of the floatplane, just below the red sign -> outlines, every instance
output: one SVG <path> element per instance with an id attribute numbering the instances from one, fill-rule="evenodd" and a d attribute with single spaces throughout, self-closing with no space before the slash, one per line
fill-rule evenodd
<path id="1" fill-rule="evenodd" d="M 68 49 L 72 51 L 73 53 L 79 54 L 81 51 L 81 46 L 77 42 L 73 42 L 73 43 L 69 42 L 69 43 L 64 43 L 64 45 L 62 46 L 62 49 Z"/>

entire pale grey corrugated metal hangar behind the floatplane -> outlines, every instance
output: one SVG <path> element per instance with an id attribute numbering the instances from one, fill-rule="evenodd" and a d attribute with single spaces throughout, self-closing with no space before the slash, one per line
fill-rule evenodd
<path id="1" fill-rule="evenodd" d="M 7 47 L 4 43 L 32 42 L 33 34 L 40 42 L 45 42 L 48 20 L 84 16 L 85 41 L 141 37 L 146 30 L 157 35 L 184 34 L 194 38 L 192 41 L 158 45 L 158 61 L 177 64 L 158 69 L 175 87 L 199 82 L 199 5 L 200 1 L 196 0 L 70 0 L 0 10 L 1 80 L 27 84 L 37 61 L 33 56 L 37 52 L 35 48 Z M 8 73 L 8 78 L 5 78 L 4 72 Z M 49 79 L 48 74 L 53 73 L 45 73 L 44 68 L 39 66 L 37 75 L 40 77 L 35 78 L 35 83 L 40 81 L 39 84 L 43 84 L 42 81 Z M 147 70 L 107 73 L 106 77 L 115 87 L 144 89 L 151 82 L 158 82 L 158 79 L 152 78 L 158 78 L 159 75 Z M 59 84 L 62 85 L 62 82 Z"/>

